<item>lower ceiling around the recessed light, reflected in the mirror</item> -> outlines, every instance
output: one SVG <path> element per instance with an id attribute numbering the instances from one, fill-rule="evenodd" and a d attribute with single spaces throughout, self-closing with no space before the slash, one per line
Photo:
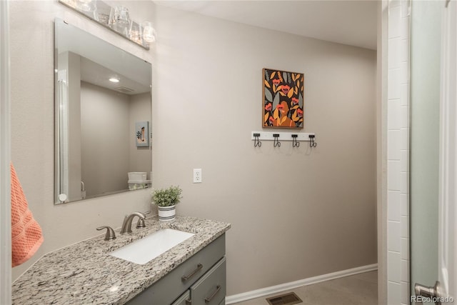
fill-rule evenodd
<path id="1" fill-rule="evenodd" d="M 109 81 L 106 76 L 112 76 L 119 79 L 119 83 Z M 87 83 L 128 95 L 142 94 L 151 91 L 149 85 L 140 84 L 123 74 L 101 66 L 85 57 L 81 57 L 81 81 L 86 81 Z"/>

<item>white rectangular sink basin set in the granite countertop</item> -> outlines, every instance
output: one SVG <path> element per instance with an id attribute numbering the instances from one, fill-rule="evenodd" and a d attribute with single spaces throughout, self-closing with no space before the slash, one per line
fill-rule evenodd
<path id="1" fill-rule="evenodd" d="M 143 265 L 191 236 L 194 236 L 194 234 L 175 229 L 161 229 L 116 251 L 112 251 L 110 255 Z"/>

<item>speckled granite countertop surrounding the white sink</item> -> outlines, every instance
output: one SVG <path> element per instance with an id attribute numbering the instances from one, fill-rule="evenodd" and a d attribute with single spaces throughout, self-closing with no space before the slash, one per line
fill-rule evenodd
<path id="1" fill-rule="evenodd" d="M 181 244 L 144 265 L 124 261 L 109 252 L 159 229 L 194 233 Z M 124 304 L 176 266 L 214 241 L 230 224 L 188 216 L 161 222 L 146 219 L 146 227 L 104 241 L 104 234 L 44 255 L 12 284 L 13 304 Z"/>

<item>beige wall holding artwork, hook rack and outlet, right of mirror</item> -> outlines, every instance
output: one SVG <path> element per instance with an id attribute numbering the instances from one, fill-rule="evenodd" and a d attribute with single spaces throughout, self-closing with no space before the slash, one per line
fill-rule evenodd
<path id="1" fill-rule="evenodd" d="M 376 264 L 376 51 L 157 7 L 154 186 L 229 221 L 228 294 Z M 316 149 L 254 148 L 262 68 L 305 74 Z M 192 169 L 203 183 L 192 184 Z"/>

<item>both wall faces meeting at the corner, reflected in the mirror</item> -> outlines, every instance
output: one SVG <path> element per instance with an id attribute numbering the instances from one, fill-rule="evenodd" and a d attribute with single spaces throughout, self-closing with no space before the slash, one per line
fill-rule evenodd
<path id="1" fill-rule="evenodd" d="M 137 121 L 151 121 L 150 93 L 130 96 L 81 81 L 81 176 L 86 196 L 127 189 L 129 171 L 150 176 L 151 148 L 136 147 Z"/>

